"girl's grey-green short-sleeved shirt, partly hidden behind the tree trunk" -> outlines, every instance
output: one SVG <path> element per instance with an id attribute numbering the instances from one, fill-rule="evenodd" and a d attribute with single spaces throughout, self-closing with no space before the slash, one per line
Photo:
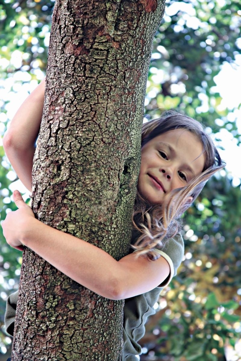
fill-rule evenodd
<path id="1" fill-rule="evenodd" d="M 162 250 L 155 249 L 164 257 L 170 266 L 170 274 L 165 281 L 154 288 L 154 290 L 143 293 L 125 300 L 123 338 L 124 347 L 122 351 L 122 361 L 136 361 L 135 355 L 141 353 L 141 346 L 138 344 L 145 334 L 145 323 L 149 316 L 155 314 L 154 304 L 158 300 L 160 291 L 166 286 L 177 273 L 184 256 L 184 243 L 182 236 L 177 234 L 175 238 L 169 239 Z M 155 262 L 155 261 L 153 261 Z M 7 332 L 13 335 L 18 291 L 12 293 L 7 300 L 5 313 L 5 325 Z"/>

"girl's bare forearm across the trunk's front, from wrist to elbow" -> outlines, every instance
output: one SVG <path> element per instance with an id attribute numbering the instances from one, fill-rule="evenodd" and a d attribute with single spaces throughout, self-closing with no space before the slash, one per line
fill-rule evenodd
<path id="1" fill-rule="evenodd" d="M 109 299 L 118 299 L 119 262 L 107 252 L 34 219 L 21 242 L 76 282 Z"/>

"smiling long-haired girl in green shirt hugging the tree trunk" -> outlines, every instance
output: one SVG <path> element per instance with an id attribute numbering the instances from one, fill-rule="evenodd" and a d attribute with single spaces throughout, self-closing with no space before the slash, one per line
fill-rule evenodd
<path id="1" fill-rule="evenodd" d="M 30 191 L 44 85 L 42 81 L 25 100 L 4 136 L 5 152 Z M 184 255 L 178 218 L 197 198 L 207 179 L 223 167 L 200 123 L 172 111 L 142 128 L 141 169 L 129 255 L 116 261 L 98 247 L 38 221 L 18 191 L 13 193 L 18 210 L 8 213 L 2 223 L 4 236 L 12 247 L 22 250 L 26 245 L 99 295 L 125 299 L 122 360 L 136 360 L 147 318 L 155 313 L 153 306 L 159 293 L 176 274 Z M 7 301 L 5 323 L 10 334 L 17 297 L 15 292 Z"/>

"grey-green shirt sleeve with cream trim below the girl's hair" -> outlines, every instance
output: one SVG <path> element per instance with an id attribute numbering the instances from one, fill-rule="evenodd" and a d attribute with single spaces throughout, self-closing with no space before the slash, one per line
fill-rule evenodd
<path id="1" fill-rule="evenodd" d="M 177 269 L 180 266 L 184 256 L 184 242 L 180 233 L 177 233 L 175 237 L 170 238 L 162 249 L 154 248 L 156 253 L 159 253 L 170 266 L 170 273 L 168 277 L 158 286 L 164 287 L 171 282 L 172 277 L 177 274 Z"/>

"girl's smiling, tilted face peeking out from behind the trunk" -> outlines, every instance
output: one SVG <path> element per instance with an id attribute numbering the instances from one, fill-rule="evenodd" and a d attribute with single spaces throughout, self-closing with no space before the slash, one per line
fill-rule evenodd
<path id="1" fill-rule="evenodd" d="M 197 136 L 175 129 L 156 136 L 141 150 L 138 190 L 150 204 L 162 204 L 165 194 L 186 185 L 205 164 Z"/>

